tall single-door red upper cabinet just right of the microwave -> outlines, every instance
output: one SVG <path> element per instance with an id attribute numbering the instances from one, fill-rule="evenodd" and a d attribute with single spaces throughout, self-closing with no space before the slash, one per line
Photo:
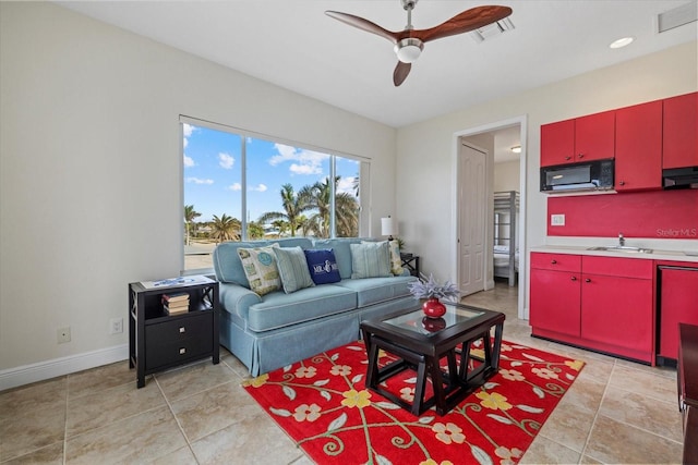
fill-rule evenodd
<path id="1" fill-rule="evenodd" d="M 662 101 L 615 113 L 615 189 L 662 187 Z"/>

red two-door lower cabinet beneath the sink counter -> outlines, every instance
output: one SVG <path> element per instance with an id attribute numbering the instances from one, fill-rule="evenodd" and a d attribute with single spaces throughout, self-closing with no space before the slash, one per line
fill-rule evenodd
<path id="1" fill-rule="evenodd" d="M 554 256 L 531 254 L 532 334 L 653 364 L 653 261 L 569 255 L 579 271 L 539 266 Z"/>

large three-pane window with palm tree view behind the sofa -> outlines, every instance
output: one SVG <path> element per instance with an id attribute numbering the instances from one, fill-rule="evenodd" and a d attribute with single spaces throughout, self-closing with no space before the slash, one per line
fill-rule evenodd
<path id="1" fill-rule="evenodd" d="M 181 129 L 184 270 L 213 268 L 224 241 L 360 235 L 366 161 L 184 117 Z"/>

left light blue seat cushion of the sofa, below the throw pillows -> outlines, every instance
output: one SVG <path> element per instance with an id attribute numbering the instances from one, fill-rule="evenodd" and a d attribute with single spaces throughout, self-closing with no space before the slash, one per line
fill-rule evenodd
<path id="1" fill-rule="evenodd" d="M 357 293 L 335 284 L 301 289 L 292 294 L 273 292 L 248 309 L 248 328 L 268 331 L 357 308 Z"/>

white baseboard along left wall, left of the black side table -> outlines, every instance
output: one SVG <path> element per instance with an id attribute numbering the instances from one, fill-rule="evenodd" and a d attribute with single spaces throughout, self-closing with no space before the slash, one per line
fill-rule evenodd
<path id="1" fill-rule="evenodd" d="M 129 359 L 129 344 L 0 371 L 0 391 Z"/>

